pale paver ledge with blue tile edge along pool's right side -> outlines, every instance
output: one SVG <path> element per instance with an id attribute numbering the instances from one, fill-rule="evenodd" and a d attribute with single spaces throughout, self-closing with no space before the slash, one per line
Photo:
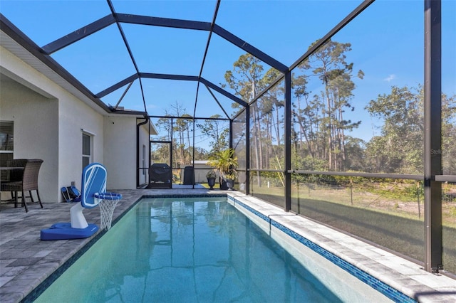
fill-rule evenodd
<path id="1" fill-rule="evenodd" d="M 240 205 L 395 302 L 456 302 L 456 280 L 303 216 L 251 196 L 229 194 Z"/>

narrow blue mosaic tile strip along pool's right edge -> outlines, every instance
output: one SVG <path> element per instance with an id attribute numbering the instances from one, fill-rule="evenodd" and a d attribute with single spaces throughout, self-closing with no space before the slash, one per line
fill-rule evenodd
<path id="1" fill-rule="evenodd" d="M 359 280 L 363 281 L 364 283 L 371 286 L 373 289 L 377 290 L 378 292 L 384 294 L 386 297 L 392 299 L 393 301 L 410 302 L 410 303 L 417 302 L 415 299 L 409 297 L 406 294 L 403 294 L 403 292 L 400 292 L 398 289 L 395 289 L 395 288 L 391 287 L 390 285 L 386 284 L 385 282 L 378 280 L 377 278 L 373 277 L 372 275 L 369 275 L 367 272 L 365 272 L 364 270 L 361 270 L 360 268 L 356 267 L 355 265 L 352 265 L 350 262 L 347 262 L 346 260 L 343 260 L 341 257 L 334 255 L 332 252 L 328 252 L 328 250 L 325 250 L 320 245 L 317 245 L 316 243 L 312 242 L 311 240 L 305 238 L 304 236 L 299 235 L 299 233 L 296 233 L 294 230 L 287 228 L 286 226 L 284 226 L 281 223 L 277 222 L 276 220 L 272 219 L 270 216 L 266 216 L 263 213 L 260 213 L 259 211 L 248 206 L 247 204 L 243 203 L 242 201 L 239 201 L 237 198 L 234 198 L 229 195 L 227 196 L 227 198 L 229 200 L 231 200 L 233 203 L 235 203 L 239 206 L 242 206 L 247 211 L 253 213 L 254 215 L 258 216 L 259 218 L 265 220 L 267 223 L 278 228 L 282 232 L 289 235 L 291 238 L 294 238 L 295 240 L 299 241 L 299 243 L 305 245 L 307 248 L 314 250 L 314 252 L 318 253 L 318 255 L 321 255 L 322 257 L 326 258 L 326 260 L 333 262 L 333 264 L 337 265 L 338 267 L 341 267 L 343 270 L 346 270 L 346 272 L 350 273 L 354 277 L 357 277 Z"/>

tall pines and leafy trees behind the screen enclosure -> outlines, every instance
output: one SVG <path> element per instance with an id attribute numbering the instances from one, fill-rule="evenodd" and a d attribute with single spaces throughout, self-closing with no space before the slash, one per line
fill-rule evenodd
<path id="1" fill-rule="evenodd" d="M 347 62 L 350 51 L 350 43 L 328 41 L 293 71 L 291 142 L 284 142 L 284 83 L 270 87 L 281 73 L 274 68 L 265 70 L 261 61 L 248 53 L 234 62 L 233 69 L 224 75 L 222 87 L 251 102 L 250 168 L 282 170 L 284 144 L 291 144 L 292 169 L 296 170 L 423 173 L 423 87 L 392 86 L 374 100 L 358 97 L 356 102 L 363 104 L 360 110 L 353 101 L 354 80 L 362 80 L 364 73 Z M 252 102 L 267 87 L 269 90 Z M 233 107 L 239 105 L 234 102 Z M 207 150 L 192 147 L 193 121 L 182 105 L 176 102 L 165 115 L 182 117 L 172 124 L 168 118 L 157 122 L 166 137 L 174 132 L 176 165 L 190 164 L 192 153 L 195 159 L 206 159 L 228 147 L 229 129 L 220 127 L 220 121 L 207 119 L 195 124 L 209 137 Z M 352 121 L 348 116 L 359 118 Z M 353 137 L 353 130 L 366 127 L 363 119 L 370 117 L 380 121 L 380 133 L 367 142 Z M 242 138 L 246 131 L 237 128 L 234 132 L 239 133 L 233 135 Z M 242 142 L 239 145 L 238 150 L 243 150 Z M 444 174 L 456 174 L 455 95 L 442 94 L 442 150 L 435 152 L 442 153 Z"/>

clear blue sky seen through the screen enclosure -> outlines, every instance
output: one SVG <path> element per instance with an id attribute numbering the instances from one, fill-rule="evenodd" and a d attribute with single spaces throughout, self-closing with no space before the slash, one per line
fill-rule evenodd
<path id="1" fill-rule="evenodd" d="M 216 1 L 118 1 L 116 12 L 162 18 L 211 22 Z M 247 41 L 286 66 L 296 63 L 309 45 L 322 38 L 361 1 L 227 1 L 222 0 L 218 26 Z M 98 18 L 110 14 L 106 1 L 20 1 L 0 0 L 1 14 L 9 18 L 38 46 L 65 36 Z M 353 79 L 356 89 L 351 104 L 355 111 L 346 117 L 362 119 L 353 136 L 366 141 L 379 134 L 380 121 L 371 118 L 364 107 L 378 95 L 388 94 L 393 85 L 417 87 L 423 84 L 423 16 L 421 0 L 378 0 L 333 37 L 351 43 L 346 53 L 353 70 L 363 70 L 363 80 Z M 442 0 L 442 91 L 456 94 L 456 1 Z M 177 28 L 122 25 L 138 69 L 142 73 L 199 75 L 209 32 Z M 245 52 L 213 34 L 202 77 L 215 85 L 225 83 L 224 73 Z M 135 74 L 117 26 L 109 26 L 52 57 L 94 94 Z M 269 65 L 264 64 L 264 70 Z M 355 73 L 356 75 L 356 73 Z M 209 117 L 224 112 L 203 85 L 192 81 L 142 79 L 147 112 L 165 115 L 176 102 L 190 115 Z M 103 97 L 116 105 L 125 88 Z M 314 81 L 312 92 L 321 90 Z M 229 89 L 227 89 L 229 90 Z M 229 90 L 229 92 L 234 93 Z M 228 115 L 234 115 L 232 100 L 212 91 Z M 130 87 L 120 106 L 144 110 L 139 81 Z"/>

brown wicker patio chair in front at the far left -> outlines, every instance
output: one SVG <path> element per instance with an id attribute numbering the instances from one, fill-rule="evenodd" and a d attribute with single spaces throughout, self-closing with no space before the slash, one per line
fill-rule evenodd
<path id="1" fill-rule="evenodd" d="M 14 193 L 14 207 L 17 207 L 18 192 L 20 191 L 22 193 L 22 205 L 26 208 L 26 212 L 28 212 L 25 193 L 28 191 L 28 194 L 30 195 L 28 198 L 30 198 L 31 202 L 34 203 L 35 201 L 33 200 L 31 191 L 36 191 L 38 202 L 40 203 L 41 208 L 43 208 L 43 204 L 41 203 L 41 198 L 38 193 L 38 174 L 42 163 L 43 160 L 41 159 L 16 159 L 13 160 L 13 163 L 11 163 L 12 166 L 15 165 L 16 167 L 24 167 L 24 170 L 11 171 L 10 181 L 1 182 L 0 190 L 11 191 L 11 193 Z"/>

